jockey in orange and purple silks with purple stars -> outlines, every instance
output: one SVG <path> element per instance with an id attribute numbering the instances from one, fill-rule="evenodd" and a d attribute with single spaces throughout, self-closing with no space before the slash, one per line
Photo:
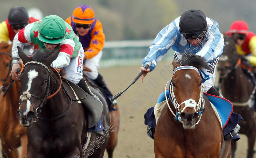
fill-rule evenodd
<path id="1" fill-rule="evenodd" d="M 95 18 L 94 10 L 88 5 L 80 5 L 66 22 L 73 28 L 84 48 L 84 65 L 92 70 L 85 71 L 85 74 L 112 97 L 105 79 L 98 73 L 105 35 L 101 22 Z M 113 103 L 110 99 L 107 102 L 111 104 L 110 107 L 116 104 L 116 101 Z"/>

